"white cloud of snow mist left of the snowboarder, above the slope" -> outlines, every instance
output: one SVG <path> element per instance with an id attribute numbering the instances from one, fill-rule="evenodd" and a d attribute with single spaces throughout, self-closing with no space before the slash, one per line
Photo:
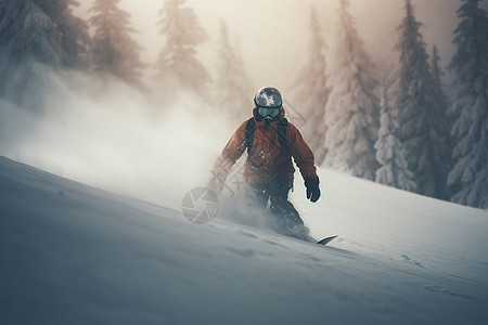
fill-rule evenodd
<path id="1" fill-rule="evenodd" d="M 178 209 L 206 185 L 232 131 L 211 107 L 191 94 L 159 107 L 115 80 L 98 92 L 89 76 L 50 77 L 57 91 L 42 114 L 1 102 L 1 155 Z"/>

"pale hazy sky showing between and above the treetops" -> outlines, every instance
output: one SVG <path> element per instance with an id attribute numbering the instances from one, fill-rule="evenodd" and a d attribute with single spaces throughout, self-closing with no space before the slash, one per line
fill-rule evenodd
<path id="1" fill-rule="evenodd" d="M 81 0 L 81 13 L 91 5 Z M 163 0 L 123 0 L 121 8 L 132 15 L 139 30 L 137 39 L 146 49 L 143 60 L 153 64 L 164 38 L 157 36 L 157 12 Z M 188 0 L 210 42 L 200 47 L 200 55 L 213 73 L 219 21 L 229 24 L 230 36 L 245 60 L 255 87 L 275 86 L 290 89 L 293 77 L 303 66 L 309 42 L 309 13 L 313 5 L 319 11 L 323 34 L 329 43 L 334 29 L 338 0 Z M 421 29 L 427 49 L 439 48 L 441 64 L 449 63 L 452 53 L 452 31 L 458 25 L 457 10 L 460 0 L 413 0 L 415 16 L 424 24 Z M 487 3 L 483 4 L 484 8 Z M 397 26 L 404 16 L 403 0 L 350 0 L 351 14 L 367 51 L 384 77 L 398 60 L 395 50 L 398 41 Z"/>

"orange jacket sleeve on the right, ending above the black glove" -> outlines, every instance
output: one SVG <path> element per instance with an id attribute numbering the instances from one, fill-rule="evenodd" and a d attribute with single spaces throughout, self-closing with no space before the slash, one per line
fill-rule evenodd
<path id="1" fill-rule="evenodd" d="M 290 123 L 288 128 L 290 150 L 296 166 L 300 170 L 304 180 L 319 179 L 317 176 L 316 158 L 313 153 L 305 142 L 298 129 Z"/>

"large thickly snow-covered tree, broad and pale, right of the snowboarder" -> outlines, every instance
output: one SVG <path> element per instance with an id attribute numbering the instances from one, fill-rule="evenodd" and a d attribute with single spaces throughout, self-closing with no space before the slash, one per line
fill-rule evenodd
<path id="1" fill-rule="evenodd" d="M 380 127 L 378 86 L 374 66 L 348 12 L 349 0 L 339 0 L 338 23 L 328 60 L 324 166 L 352 176 L 375 179 L 378 168 L 374 143 Z"/>

